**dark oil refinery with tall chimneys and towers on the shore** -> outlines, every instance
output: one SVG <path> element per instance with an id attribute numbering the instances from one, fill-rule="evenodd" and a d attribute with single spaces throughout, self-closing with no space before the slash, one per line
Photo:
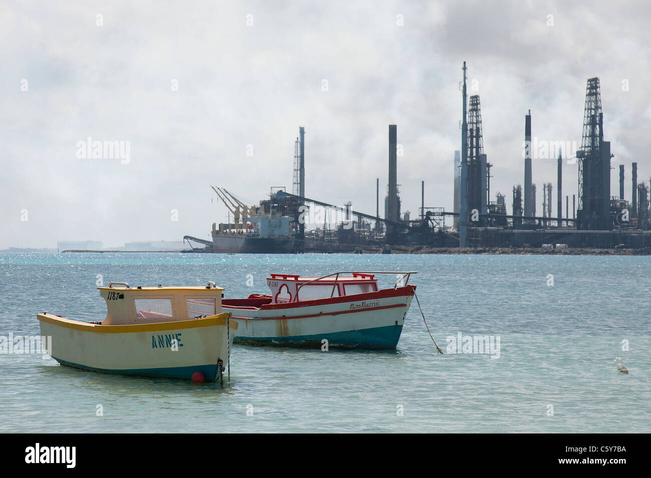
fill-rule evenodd
<path id="1" fill-rule="evenodd" d="M 511 207 L 499 192 L 491 196 L 491 178 L 499 165 L 484 152 L 481 104 L 478 94 L 467 96 L 467 66 L 462 68 L 462 120 L 459 150 L 454 157 L 453 210 L 426 207 L 424 181 L 418 213 L 401 211 L 398 191 L 398 127 L 389 125 L 388 184 L 380 215 L 380 179 L 376 179 L 376 213 L 353 211 L 307 197 L 305 192 L 305 128 L 299 127 L 294 143 L 292 193 L 286 187 L 270 187 L 268 198 L 247 205 L 236 193 L 211 186 L 228 209 L 227 223 L 212 224 L 212 241 L 186 235 L 192 252 L 382 252 L 396 246 L 428 248 L 596 248 L 641 249 L 651 239 L 649 183 L 637 179 L 637 163 L 631 164 L 631 191 L 625 195 L 626 170 L 619 165 L 618 195 L 611 195 L 611 142 L 605 140 L 604 115 L 598 77 L 587 80 L 581 146 L 575 157 L 557 156 L 554 185 L 536 187 L 531 110 L 525 114 L 523 183 L 512 188 Z M 578 127 L 577 127 L 578 131 Z M 569 154 L 566 148 L 565 155 Z M 576 165 L 577 194 L 563 196 L 563 165 Z M 555 189 L 555 200 L 554 200 Z M 536 193 L 542 194 L 536 214 Z M 556 203 L 556 211 L 552 206 Z M 563 205 L 564 203 L 564 205 Z M 571 209 L 570 209 L 571 206 Z M 564 207 L 564 211 L 563 211 Z M 509 214 L 510 212 L 510 214 Z M 232 222 L 230 218 L 232 217 Z M 446 223 L 447 221 L 447 223 Z"/>

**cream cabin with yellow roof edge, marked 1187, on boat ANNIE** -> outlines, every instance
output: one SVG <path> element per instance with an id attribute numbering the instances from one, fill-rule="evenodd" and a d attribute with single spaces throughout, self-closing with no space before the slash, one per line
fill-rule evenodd
<path id="1" fill-rule="evenodd" d="M 222 312 L 224 291 L 214 282 L 193 287 L 130 287 L 126 282 L 111 282 L 98 290 L 107 308 L 102 325 L 187 321 L 217 315 Z"/>

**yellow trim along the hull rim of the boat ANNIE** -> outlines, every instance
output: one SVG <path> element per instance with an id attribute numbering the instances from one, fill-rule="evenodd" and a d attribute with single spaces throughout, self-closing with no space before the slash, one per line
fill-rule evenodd
<path id="1" fill-rule="evenodd" d="M 226 325 L 227 316 L 230 312 L 223 312 L 211 317 L 204 317 L 202 319 L 189 319 L 186 321 L 174 322 L 157 322 L 154 324 L 132 324 L 132 325 L 98 325 L 89 322 L 72 321 L 64 319 L 51 313 L 39 313 L 36 315 L 38 320 L 47 322 L 52 325 L 61 326 L 64 328 L 72 328 L 74 330 L 83 330 L 85 332 L 100 332 L 100 333 L 114 333 L 123 334 L 125 332 L 159 332 L 161 330 L 178 330 L 180 328 L 197 328 L 197 327 L 210 327 L 215 325 Z M 237 330 L 238 323 L 230 321 L 230 328 Z"/>

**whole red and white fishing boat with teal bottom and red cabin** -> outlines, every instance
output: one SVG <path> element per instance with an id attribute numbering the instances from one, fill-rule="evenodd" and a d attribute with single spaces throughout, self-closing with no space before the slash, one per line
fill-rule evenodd
<path id="1" fill-rule="evenodd" d="M 223 299 L 221 306 L 238 323 L 235 343 L 393 350 L 416 291 L 408 284 L 415 273 L 271 274 L 271 294 Z M 377 274 L 394 274 L 398 280 L 378 289 Z"/>

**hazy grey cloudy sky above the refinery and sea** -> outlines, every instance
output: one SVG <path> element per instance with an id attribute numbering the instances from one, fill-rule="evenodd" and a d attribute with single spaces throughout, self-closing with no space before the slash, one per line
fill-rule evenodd
<path id="1" fill-rule="evenodd" d="M 210 239 L 228 214 L 210 185 L 249 204 L 292 191 L 299 126 L 307 197 L 374 214 L 380 178 L 383 214 L 396 124 L 402 211 L 417 214 L 421 181 L 426 207 L 452 211 L 464 61 L 491 200 L 510 213 L 523 183 L 527 111 L 534 141 L 580 146 L 595 76 L 611 192 L 624 164 L 630 199 L 631 162 L 651 176 L 650 14 L 644 1 L 0 0 L 0 248 Z M 554 157 L 533 160 L 537 211 L 546 182 L 556 210 Z M 577 165 L 563 172 L 571 208 Z"/>

